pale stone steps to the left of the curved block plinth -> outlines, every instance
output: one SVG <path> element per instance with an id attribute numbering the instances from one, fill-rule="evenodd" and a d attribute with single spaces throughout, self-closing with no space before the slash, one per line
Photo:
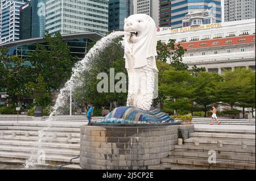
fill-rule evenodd
<path id="1" fill-rule="evenodd" d="M 81 124 L 86 123 L 55 121 L 51 122 L 51 127 L 48 127 L 47 121 L 23 121 L 23 123 L 0 121 L 0 158 L 24 160 L 30 158 L 32 152 L 43 150 L 47 162 L 67 163 L 80 154 Z M 39 131 L 42 130 L 44 136 L 40 138 L 42 147 L 39 149 Z M 78 158 L 75 163 L 79 161 Z M 65 169 L 71 168 L 65 167 Z"/>

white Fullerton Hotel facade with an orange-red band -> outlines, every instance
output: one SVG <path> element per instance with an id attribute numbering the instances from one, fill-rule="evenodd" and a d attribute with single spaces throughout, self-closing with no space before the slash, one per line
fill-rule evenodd
<path id="1" fill-rule="evenodd" d="M 189 68 L 196 65 L 223 73 L 245 66 L 255 71 L 255 19 L 202 24 L 182 28 L 158 28 L 158 40 L 175 39 L 187 49 L 183 57 Z"/>

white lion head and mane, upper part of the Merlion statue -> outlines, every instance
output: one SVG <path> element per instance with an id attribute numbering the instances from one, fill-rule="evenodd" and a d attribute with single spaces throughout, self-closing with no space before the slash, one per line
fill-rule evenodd
<path id="1" fill-rule="evenodd" d="M 156 26 L 154 20 L 146 14 L 134 14 L 125 19 L 123 27 L 125 33 L 125 60 L 133 57 L 134 68 L 142 68 L 147 65 L 147 58 L 154 58 L 152 69 L 158 71 L 155 63 L 156 53 Z M 131 56 L 130 56 L 131 55 Z"/>

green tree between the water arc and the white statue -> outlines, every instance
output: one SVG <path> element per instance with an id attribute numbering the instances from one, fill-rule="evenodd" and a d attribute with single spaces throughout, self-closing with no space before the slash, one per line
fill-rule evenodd
<path id="1" fill-rule="evenodd" d="M 114 73 L 124 73 L 127 77 L 125 69 L 125 60 L 123 58 L 122 49 L 120 48 L 120 37 L 113 40 L 108 47 L 100 50 L 97 57 L 94 57 L 90 70 L 87 70 L 82 75 L 82 86 L 75 90 L 74 98 L 78 103 L 93 103 L 96 107 L 108 106 L 109 103 L 114 105 L 114 102 L 125 105 L 127 92 L 98 92 L 97 85 L 101 79 L 97 79 L 98 73 L 108 74 L 108 85 L 110 85 L 110 68 L 114 68 Z M 90 44 L 92 47 L 96 42 Z M 119 80 L 115 80 L 117 83 Z M 126 85 L 127 87 L 127 85 Z"/>

